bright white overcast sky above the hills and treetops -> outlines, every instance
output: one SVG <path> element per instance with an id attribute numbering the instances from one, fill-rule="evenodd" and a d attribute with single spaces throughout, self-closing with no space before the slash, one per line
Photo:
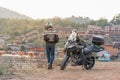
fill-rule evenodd
<path id="1" fill-rule="evenodd" d="M 120 13 L 120 0 L 0 0 L 8 8 L 33 19 L 89 17 L 111 20 Z"/>

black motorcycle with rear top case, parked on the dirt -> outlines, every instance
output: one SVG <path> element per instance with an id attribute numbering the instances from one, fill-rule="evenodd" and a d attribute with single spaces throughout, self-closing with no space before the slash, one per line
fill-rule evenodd
<path id="1" fill-rule="evenodd" d="M 81 39 L 78 41 L 68 40 L 60 69 L 64 70 L 69 63 L 82 66 L 86 70 L 92 69 L 95 65 L 95 52 L 103 51 L 104 48 L 101 47 L 103 44 L 104 38 L 102 36 L 94 36 L 92 44 L 88 44 Z"/>

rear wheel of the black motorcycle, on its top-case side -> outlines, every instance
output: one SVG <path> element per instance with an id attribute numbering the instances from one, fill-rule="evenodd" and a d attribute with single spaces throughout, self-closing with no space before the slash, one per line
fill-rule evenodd
<path id="1" fill-rule="evenodd" d="M 90 58 L 87 59 L 86 64 L 84 64 L 84 68 L 86 70 L 91 70 L 94 65 L 95 65 L 95 57 L 91 56 Z"/>

